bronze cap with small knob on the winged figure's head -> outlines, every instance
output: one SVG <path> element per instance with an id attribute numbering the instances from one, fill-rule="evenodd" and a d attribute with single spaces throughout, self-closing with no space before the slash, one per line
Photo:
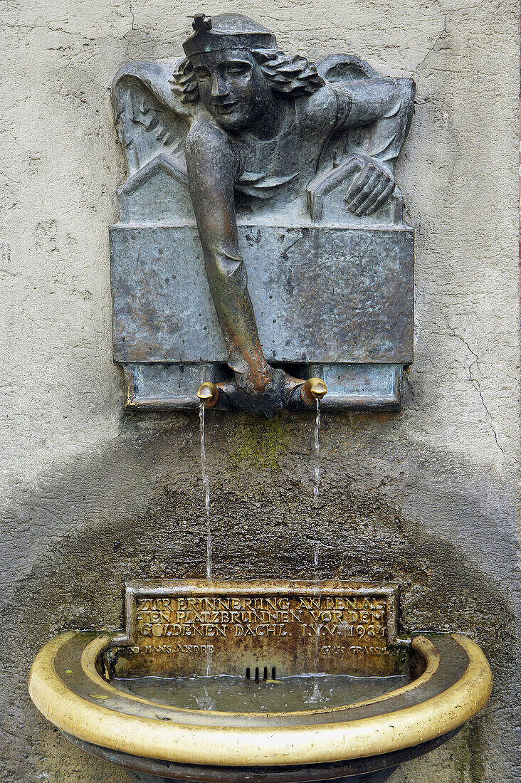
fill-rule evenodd
<path id="1" fill-rule="evenodd" d="M 262 24 L 240 13 L 223 13 L 212 20 L 204 13 L 194 16 L 194 35 L 184 43 L 187 57 L 215 49 L 273 49 L 277 39 Z"/>

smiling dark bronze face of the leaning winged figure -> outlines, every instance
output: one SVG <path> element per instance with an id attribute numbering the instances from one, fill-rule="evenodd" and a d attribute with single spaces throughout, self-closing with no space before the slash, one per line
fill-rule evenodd
<path id="1" fill-rule="evenodd" d="M 258 63 L 244 49 L 204 52 L 190 58 L 204 106 L 223 128 L 238 130 L 255 122 L 272 100 Z"/>

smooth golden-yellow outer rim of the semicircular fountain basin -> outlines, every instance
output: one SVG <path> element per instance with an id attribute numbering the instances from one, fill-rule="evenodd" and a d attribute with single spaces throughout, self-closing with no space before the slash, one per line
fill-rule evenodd
<path id="1" fill-rule="evenodd" d="M 74 693 L 56 673 L 54 659 L 77 635 L 74 631 L 62 634 L 34 660 L 29 691 L 40 712 L 61 731 L 84 742 L 177 763 L 271 767 L 378 756 L 414 747 L 462 726 L 486 704 L 492 688 L 483 652 L 472 640 L 454 633 L 451 638 L 465 652 L 468 665 L 454 684 L 419 704 L 314 725 L 190 725 L 118 712 Z M 429 667 L 429 656 L 435 655 L 436 648 L 425 637 L 416 637 L 413 646 L 422 651 Z M 389 698 L 382 699 L 383 710 L 387 704 Z M 338 713 L 338 718 L 341 714 L 346 716 L 346 712 Z"/>

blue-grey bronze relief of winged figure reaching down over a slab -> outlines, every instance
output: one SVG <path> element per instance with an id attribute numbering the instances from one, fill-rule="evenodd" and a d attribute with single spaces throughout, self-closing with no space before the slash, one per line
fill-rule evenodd
<path id="1" fill-rule="evenodd" d="M 207 380 L 219 406 L 272 415 L 309 404 L 318 375 L 331 406 L 400 406 L 414 251 L 394 167 L 414 81 L 352 55 L 288 56 L 238 14 L 193 27 L 181 60 L 114 81 L 128 405 L 193 405 Z"/>

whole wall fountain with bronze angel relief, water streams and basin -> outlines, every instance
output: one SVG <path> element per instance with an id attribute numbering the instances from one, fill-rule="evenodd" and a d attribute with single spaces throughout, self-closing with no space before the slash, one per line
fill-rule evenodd
<path id="1" fill-rule="evenodd" d="M 320 406 L 400 408 L 414 232 L 394 164 L 414 82 L 287 56 L 244 16 L 193 26 L 182 60 L 114 81 L 129 176 L 110 254 L 126 406 L 199 406 L 208 512 L 206 408 L 316 406 L 316 456 Z M 215 581 L 208 522 L 206 579 L 127 583 L 124 630 L 50 641 L 31 698 L 141 783 L 379 783 L 491 688 L 472 640 L 399 615 L 395 583 Z"/>

